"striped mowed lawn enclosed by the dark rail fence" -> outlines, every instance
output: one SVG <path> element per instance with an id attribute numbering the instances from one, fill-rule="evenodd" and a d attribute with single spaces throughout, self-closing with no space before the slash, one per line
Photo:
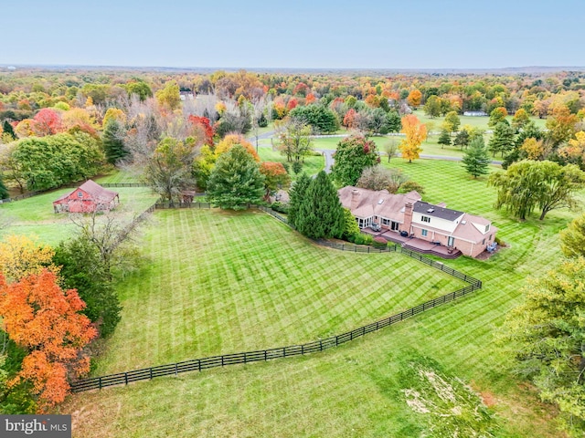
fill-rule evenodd
<path id="1" fill-rule="evenodd" d="M 307 342 L 465 286 L 403 255 L 324 249 L 255 211 L 157 212 L 145 243 L 96 373 Z"/>

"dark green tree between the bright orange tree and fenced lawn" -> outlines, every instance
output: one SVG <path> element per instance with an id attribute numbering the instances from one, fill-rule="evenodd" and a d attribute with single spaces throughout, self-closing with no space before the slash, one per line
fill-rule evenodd
<path id="1" fill-rule="evenodd" d="M 99 324 L 102 337 L 112 334 L 122 318 L 122 307 L 97 248 L 86 237 L 61 242 L 55 249 L 53 263 L 61 266 L 62 286 L 77 289 L 87 305 L 81 313 Z"/>

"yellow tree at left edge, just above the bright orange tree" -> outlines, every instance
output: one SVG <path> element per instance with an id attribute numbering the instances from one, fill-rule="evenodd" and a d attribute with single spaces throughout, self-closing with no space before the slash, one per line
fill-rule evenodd
<path id="1" fill-rule="evenodd" d="M 8 281 L 18 281 L 43 269 L 58 273 L 58 266 L 52 262 L 54 254 L 50 246 L 37 244 L 26 235 L 8 235 L 0 242 L 0 273 Z"/>

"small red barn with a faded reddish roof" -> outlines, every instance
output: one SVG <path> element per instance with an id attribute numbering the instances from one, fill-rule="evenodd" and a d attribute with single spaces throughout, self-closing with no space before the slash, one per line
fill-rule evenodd
<path id="1" fill-rule="evenodd" d="M 104 189 L 91 180 L 71 193 L 64 194 L 53 203 L 55 213 L 90 213 L 112 210 L 118 203 L 118 193 Z"/>

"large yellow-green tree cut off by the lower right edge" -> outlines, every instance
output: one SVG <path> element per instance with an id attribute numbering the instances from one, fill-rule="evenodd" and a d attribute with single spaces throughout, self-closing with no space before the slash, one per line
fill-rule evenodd
<path id="1" fill-rule="evenodd" d="M 506 317 L 503 340 L 517 370 L 530 379 L 543 401 L 556 403 L 571 436 L 585 431 L 585 258 L 563 262 L 523 287 L 524 303 Z"/>

